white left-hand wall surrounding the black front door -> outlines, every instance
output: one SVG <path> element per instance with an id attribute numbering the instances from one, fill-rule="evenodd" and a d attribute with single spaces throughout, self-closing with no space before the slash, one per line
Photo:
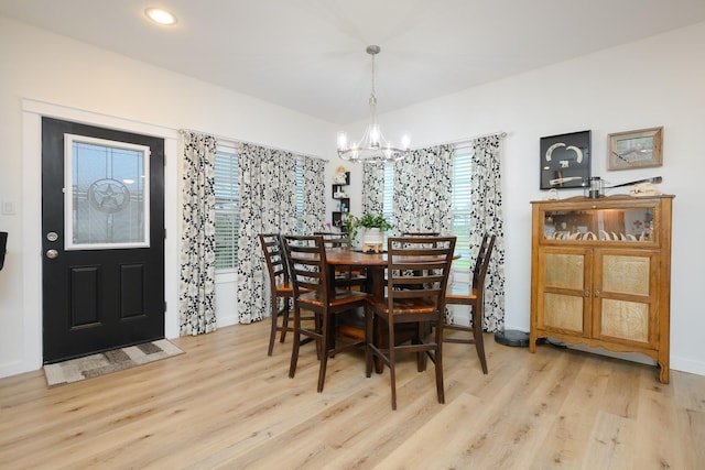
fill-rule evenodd
<path id="1" fill-rule="evenodd" d="M 337 131 L 308 116 L 0 17 L 0 201 L 15 207 L 13 215 L 0 214 L 0 230 L 9 232 L 0 271 L 0 376 L 41 367 L 40 114 L 166 139 L 167 337 L 178 331 L 176 130 L 322 157 L 333 155 Z M 335 166 L 327 165 L 328 179 Z M 221 325 L 237 321 L 232 276 L 225 281 L 229 284 L 217 286 Z"/>

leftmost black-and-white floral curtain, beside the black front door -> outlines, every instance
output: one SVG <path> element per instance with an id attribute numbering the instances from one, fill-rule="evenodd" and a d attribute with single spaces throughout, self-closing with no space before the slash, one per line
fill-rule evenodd
<path id="1" fill-rule="evenodd" d="M 182 132 L 184 149 L 180 335 L 216 330 L 215 156 L 216 139 Z"/>

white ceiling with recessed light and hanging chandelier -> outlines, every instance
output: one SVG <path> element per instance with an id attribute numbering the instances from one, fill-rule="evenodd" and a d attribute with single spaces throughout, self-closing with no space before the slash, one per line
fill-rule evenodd
<path id="1" fill-rule="evenodd" d="M 151 6 L 177 24 L 150 23 Z M 705 0 L 0 0 L 0 14 L 344 124 L 368 112 L 370 44 L 384 112 L 705 21 Z"/>

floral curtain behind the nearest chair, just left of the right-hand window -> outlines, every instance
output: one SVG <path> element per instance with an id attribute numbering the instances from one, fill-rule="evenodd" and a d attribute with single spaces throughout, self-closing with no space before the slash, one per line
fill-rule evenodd
<path id="1" fill-rule="evenodd" d="M 393 233 L 451 232 L 453 146 L 420 149 L 394 166 Z"/>

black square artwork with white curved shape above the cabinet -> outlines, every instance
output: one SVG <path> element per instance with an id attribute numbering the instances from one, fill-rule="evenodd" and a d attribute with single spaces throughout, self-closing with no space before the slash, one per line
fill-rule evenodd
<path id="1" fill-rule="evenodd" d="M 590 131 L 541 138 L 541 189 L 579 188 L 590 179 Z"/>

